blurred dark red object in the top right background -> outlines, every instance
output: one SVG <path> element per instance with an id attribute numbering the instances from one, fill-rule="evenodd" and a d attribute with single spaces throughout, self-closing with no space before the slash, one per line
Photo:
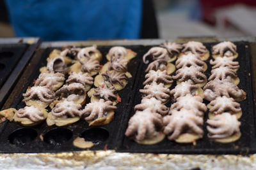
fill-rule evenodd
<path id="1" fill-rule="evenodd" d="M 214 11 L 218 8 L 224 8 L 234 4 L 256 6 L 256 1 L 253 0 L 200 0 L 200 2 L 202 6 L 202 19 L 210 24 L 215 24 L 216 18 L 214 17 Z"/>

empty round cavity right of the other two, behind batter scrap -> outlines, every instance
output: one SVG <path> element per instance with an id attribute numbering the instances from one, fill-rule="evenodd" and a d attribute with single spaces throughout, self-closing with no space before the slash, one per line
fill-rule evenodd
<path id="1" fill-rule="evenodd" d="M 109 137 L 109 132 L 106 129 L 95 127 L 88 129 L 81 134 L 85 141 L 92 141 L 94 145 L 100 145 Z"/>

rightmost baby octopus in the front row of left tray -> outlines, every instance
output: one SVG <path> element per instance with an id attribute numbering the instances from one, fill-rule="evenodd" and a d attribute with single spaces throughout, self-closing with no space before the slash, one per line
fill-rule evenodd
<path id="1" fill-rule="evenodd" d="M 116 106 L 113 106 L 113 102 L 100 99 L 99 101 L 86 104 L 83 110 L 83 117 L 85 117 L 84 120 L 90 121 L 106 116 L 108 111 L 111 110 L 116 110 Z"/>

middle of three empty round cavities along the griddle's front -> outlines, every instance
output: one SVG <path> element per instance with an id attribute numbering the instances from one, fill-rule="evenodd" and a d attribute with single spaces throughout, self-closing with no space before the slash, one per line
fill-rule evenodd
<path id="1" fill-rule="evenodd" d="M 72 136 L 73 133 L 69 129 L 57 127 L 44 134 L 44 142 L 58 146 L 69 141 Z"/>

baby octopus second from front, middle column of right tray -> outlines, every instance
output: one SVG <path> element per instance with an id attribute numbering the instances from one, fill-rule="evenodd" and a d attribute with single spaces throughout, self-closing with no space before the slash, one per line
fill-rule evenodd
<path id="1" fill-rule="evenodd" d="M 176 103 L 173 103 L 169 115 L 172 115 L 173 110 L 180 111 L 182 108 L 186 110 L 194 110 L 192 113 L 195 113 L 196 116 L 204 116 L 207 107 L 203 103 L 203 99 L 200 96 L 192 96 L 187 94 L 186 96 L 179 97 Z"/>

